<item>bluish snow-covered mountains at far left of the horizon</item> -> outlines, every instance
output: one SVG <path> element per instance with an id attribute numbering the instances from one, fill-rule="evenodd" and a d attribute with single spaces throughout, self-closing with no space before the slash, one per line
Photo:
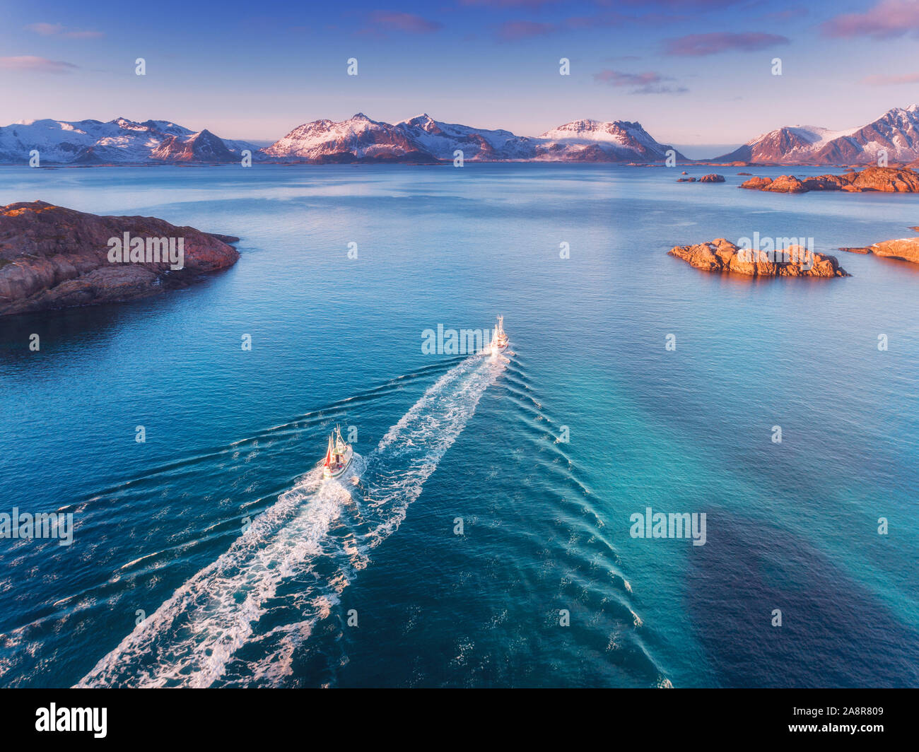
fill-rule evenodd
<path id="1" fill-rule="evenodd" d="M 252 144 L 167 120 L 30 120 L 0 128 L 0 163 L 28 164 L 33 149 L 41 164 L 77 165 L 234 162 L 244 149 L 257 152 Z"/>

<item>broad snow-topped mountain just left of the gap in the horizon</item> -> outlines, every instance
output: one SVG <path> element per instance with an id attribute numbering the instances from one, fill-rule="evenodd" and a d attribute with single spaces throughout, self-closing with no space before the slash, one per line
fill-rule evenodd
<path id="1" fill-rule="evenodd" d="M 654 141 L 641 123 L 573 120 L 539 136 L 537 159 L 563 162 L 661 162 L 673 146 Z M 686 157 L 675 152 L 676 159 Z"/>

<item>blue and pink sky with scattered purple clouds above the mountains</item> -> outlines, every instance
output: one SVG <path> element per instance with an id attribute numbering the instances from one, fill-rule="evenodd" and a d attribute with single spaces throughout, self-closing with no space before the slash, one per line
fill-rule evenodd
<path id="1" fill-rule="evenodd" d="M 172 120 L 262 143 L 426 112 L 528 136 L 638 120 L 659 142 L 727 146 L 919 102 L 919 0 L 4 5 L 0 125 Z"/>

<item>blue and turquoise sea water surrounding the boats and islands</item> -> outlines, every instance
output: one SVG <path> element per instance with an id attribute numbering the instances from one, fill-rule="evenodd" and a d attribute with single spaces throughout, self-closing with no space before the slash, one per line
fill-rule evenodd
<path id="1" fill-rule="evenodd" d="M 242 238 L 196 287 L 0 319 L 0 512 L 75 525 L 0 541 L 0 685 L 919 685 L 919 268 L 666 255 L 908 236 L 916 198 L 734 172 L 0 169 L 0 204 Z M 422 353 L 495 313 L 506 358 Z M 356 482 L 312 471 L 335 424 Z M 705 545 L 630 537 L 646 507 Z"/>

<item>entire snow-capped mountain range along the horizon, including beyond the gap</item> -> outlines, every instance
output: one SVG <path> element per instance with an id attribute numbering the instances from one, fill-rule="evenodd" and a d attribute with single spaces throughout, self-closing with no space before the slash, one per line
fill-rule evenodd
<path id="1" fill-rule="evenodd" d="M 573 120 L 539 136 L 517 136 L 434 120 L 427 114 L 388 123 L 358 112 L 335 122 L 313 120 L 270 146 L 221 139 L 168 120 L 30 120 L 0 128 L 0 164 L 28 163 L 38 150 L 42 164 L 137 165 L 233 163 L 245 150 L 256 161 L 283 163 L 453 161 L 471 162 L 663 162 L 673 146 L 654 140 L 641 123 Z M 891 163 L 919 160 L 919 106 L 893 108 L 860 128 L 831 131 L 786 126 L 746 142 L 714 162 L 776 165 L 858 165 L 883 154 Z"/>

